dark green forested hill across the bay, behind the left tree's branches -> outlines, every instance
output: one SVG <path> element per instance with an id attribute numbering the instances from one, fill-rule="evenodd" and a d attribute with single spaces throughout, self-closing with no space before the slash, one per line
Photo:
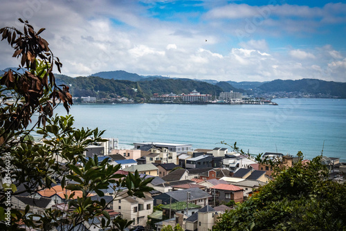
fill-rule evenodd
<path id="1" fill-rule="evenodd" d="M 219 95 L 224 91 L 219 86 L 190 79 L 155 79 L 150 81 L 132 82 L 128 80 L 108 80 L 97 76 L 69 77 L 55 75 L 58 84 L 70 86 L 73 96 L 92 96 L 97 98 L 113 98 L 116 95 L 127 98 L 149 98 L 154 93 L 185 93 L 194 89 L 203 94 Z"/>

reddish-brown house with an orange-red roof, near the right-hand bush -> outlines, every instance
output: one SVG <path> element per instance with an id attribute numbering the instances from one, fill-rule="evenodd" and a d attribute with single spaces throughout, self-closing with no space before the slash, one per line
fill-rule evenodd
<path id="1" fill-rule="evenodd" d="M 243 201 L 243 189 L 235 185 L 219 184 L 210 187 L 210 190 L 217 201 Z"/>

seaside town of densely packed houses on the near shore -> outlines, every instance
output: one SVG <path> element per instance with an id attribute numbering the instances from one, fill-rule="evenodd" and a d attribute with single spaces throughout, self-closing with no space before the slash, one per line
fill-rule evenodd
<path id="1" fill-rule="evenodd" d="M 104 140 L 107 141 L 87 147 L 85 158 L 98 156 L 100 162 L 107 159 L 109 165 L 120 165 L 120 174 L 138 171 L 142 178 L 153 178 L 149 186 L 154 190 L 140 198 L 128 196 L 127 189 L 115 194 L 116 187 L 112 186 L 102 190 L 104 196 L 89 196 L 93 200 L 110 201 L 107 212 L 111 219 L 121 216 L 133 221 L 129 228 L 137 230 L 161 230 L 164 226 L 175 227 L 177 224 L 183 230 L 212 230 L 221 214 L 233 210 L 235 203 L 243 203 L 259 187 L 274 181 L 273 169 L 269 165 L 257 163 L 253 156 L 228 147 L 192 149 L 192 145 L 186 144 L 134 142 L 131 149 L 119 149 L 118 139 Z M 43 141 L 35 138 L 35 142 Z M 264 153 L 262 158 L 280 161 L 282 168 L 292 167 L 302 160 L 299 156 L 271 152 Z M 302 160 L 302 163 L 309 161 Z M 322 164 L 329 169 L 329 179 L 345 182 L 346 163 L 340 163 L 339 158 L 323 156 Z M 34 214 L 42 214 L 50 207 L 64 210 L 64 194 L 75 199 L 80 194 L 63 190 L 60 180 L 57 178 L 57 185 L 51 189 L 12 196 L 12 206 L 24 210 L 30 205 Z M 99 219 L 86 220 L 84 225 L 89 227 L 93 223 L 93 230 L 101 230 Z"/>

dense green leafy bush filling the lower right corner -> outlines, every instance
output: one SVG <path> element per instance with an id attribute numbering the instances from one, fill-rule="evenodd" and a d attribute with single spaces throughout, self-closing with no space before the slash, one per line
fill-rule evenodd
<path id="1" fill-rule="evenodd" d="M 328 180 L 321 156 L 278 166 L 274 181 L 221 215 L 215 230 L 346 230 L 346 185 Z"/>

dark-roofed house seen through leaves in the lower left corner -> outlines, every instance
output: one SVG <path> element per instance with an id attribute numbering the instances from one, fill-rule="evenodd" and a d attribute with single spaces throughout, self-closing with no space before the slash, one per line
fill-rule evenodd
<path id="1" fill-rule="evenodd" d="M 44 211 L 52 207 L 55 202 L 51 198 L 33 198 L 28 196 L 12 196 L 12 207 L 19 210 L 25 210 L 26 205 L 30 205 L 29 212 L 32 214 L 43 215 Z"/>

